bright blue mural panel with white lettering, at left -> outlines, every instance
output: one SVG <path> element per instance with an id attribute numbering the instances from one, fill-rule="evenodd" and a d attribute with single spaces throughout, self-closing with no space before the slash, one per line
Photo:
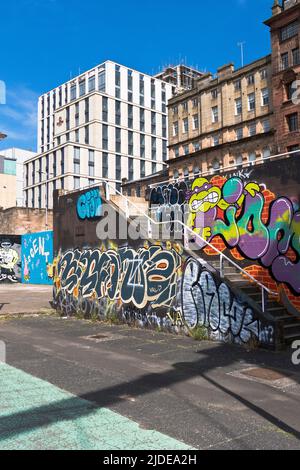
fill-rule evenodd
<path id="1" fill-rule="evenodd" d="M 53 283 L 53 232 L 22 236 L 22 282 L 24 284 Z"/>

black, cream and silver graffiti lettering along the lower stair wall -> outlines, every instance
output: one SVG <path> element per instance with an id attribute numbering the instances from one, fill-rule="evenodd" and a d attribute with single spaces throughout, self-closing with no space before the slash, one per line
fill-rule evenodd
<path id="1" fill-rule="evenodd" d="M 113 315 L 176 333 L 205 326 L 224 341 L 272 344 L 273 327 L 266 335 L 253 310 L 197 260 L 184 260 L 178 244 L 68 250 L 54 266 L 53 305 L 63 315 Z"/>

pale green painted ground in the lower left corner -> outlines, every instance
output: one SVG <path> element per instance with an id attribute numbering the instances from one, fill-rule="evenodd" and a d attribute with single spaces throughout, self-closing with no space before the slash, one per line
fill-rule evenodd
<path id="1" fill-rule="evenodd" d="M 0 450 L 190 449 L 3 363 L 0 384 Z"/>

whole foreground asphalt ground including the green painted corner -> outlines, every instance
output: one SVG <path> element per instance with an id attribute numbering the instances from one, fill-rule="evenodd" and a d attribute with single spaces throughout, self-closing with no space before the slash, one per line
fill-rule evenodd
<path id="1" fill-rule="evenodd" d="M 290 353 L 49 316 L 2 320 L 0 340 L 0 449 L 300 449 Z"/>

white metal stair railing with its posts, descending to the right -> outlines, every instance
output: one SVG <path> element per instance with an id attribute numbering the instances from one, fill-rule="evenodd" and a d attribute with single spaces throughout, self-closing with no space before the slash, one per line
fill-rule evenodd
<path id="1" fill-rule="evenodd" d="M 134 204 L 132 201 L 130 201 L 126 196 L 124 196 L 120 191 L 118 191 L 110 183 L 105 182 L 104 184 L 105 184 L 105 193 L 106 193 L 106 200 L 107 201 L 110 201 L 110 188 L 112 189 L 114 195 L 117 194 L 125 200 L 125 208 L 126 208 L 125 209 L 125 215 L 126 215 L 127 219 L 129 218 L 129 206 L 130 205 L 132 207 L 134 207 L 134 209 L 136 211 L 138 211 L 137 214 L 135 214 L 135 215 L 138 215 L 138 213 L 141 212 L 141 215 L 147 219 L 149 238 L 152 237 L 152 227 L 151 227 L 152 224 L 153 225 L 170 224 L 170 221 L 157 222 L 156 220 L 152 219 L 151 217 L 149 217 L 148 214 L 142 212 L 142 209 L 140 207 L 138 207 L 136 204 Z M 172 224 L 176 224 L 176 223 L 181 225 L 184 229 L 184 242 L 185 243 L 187 241 L 187 234 L 189 233 L 194 238 L 196 237 L 196 239 L 200 240 L 202 243 L 204 242 L 207 247 L 211 248 L 220 257 L 220 269 L 219 269 L 219 271 L 220 271 L 220 276 L 222 278 L 224 277 L 224 265 L 223 265 L 223 263 L 224 263 L 224 260 L 226 260 L 231 266 L 233 266 L 238 271 L 240 271 L 243 274 L 243 276 L 250 279 L 254 284 L 256 284 L 261 289 L 261 305 L 262 305 L 262 311 L 264 313 L 265 313 L 266 307 L 267 307 L 268 295 L 273 296 L 273 297 L 279 297 L 278 292 L 272 291 L 271 289 L 266 287 L 264 284 L 259 282 L 257 279 L 255 279 L 255 277 L 251 276 L 251 274 L 249 274 L 247 271 L 245 271 L 243 268 L 241 268 L 241 266 L 239 266 L 237 263 L 232 261 L 228 256 L 226 256 L 224 253 L 222 253 L 220 250 L 218 250 L 214 245 L 212 245 L 210 242 L 208 242 L 207 240 L 202 238 L 200 235 L 195 233 L 190 227 L 185 225 L 181 220 L 172 220 Z M 186 244 L 185 244 L 185 248 L 186 248 Z"/>

